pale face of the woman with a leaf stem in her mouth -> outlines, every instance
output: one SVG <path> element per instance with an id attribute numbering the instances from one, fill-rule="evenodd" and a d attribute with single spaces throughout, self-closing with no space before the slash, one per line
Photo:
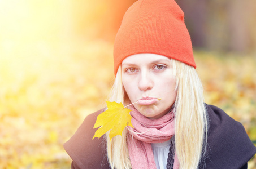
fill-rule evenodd
<path id="1" fill-rule="evenodd" d="M 175 102 L 175 77 L 171 60 L 156 54 L 135 54 L 122 62 L 122 82 L 134 107 L 142 115 L 157 119 Z M 157 100 L 161 98 L 161 100 Z"/>

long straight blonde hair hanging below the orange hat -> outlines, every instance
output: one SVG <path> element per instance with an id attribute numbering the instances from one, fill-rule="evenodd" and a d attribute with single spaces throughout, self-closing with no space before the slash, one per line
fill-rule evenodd
<path id="1" fill-rule="evenodd" d="M 206 153 L 207 112 L 203 103 L 203 87 L 196 70 L 189 65 L 172 59 L 176 79 L 175 100 L 175 150 L 180 168 L 198 168 Z M 122 84 L 119 66 L 109 101 L 128 104 Z M 127 145 L 127 129 L 122 136 L 110 140 L 106 134 L 107 155 L 111 168 L 132 168 Z"/>

